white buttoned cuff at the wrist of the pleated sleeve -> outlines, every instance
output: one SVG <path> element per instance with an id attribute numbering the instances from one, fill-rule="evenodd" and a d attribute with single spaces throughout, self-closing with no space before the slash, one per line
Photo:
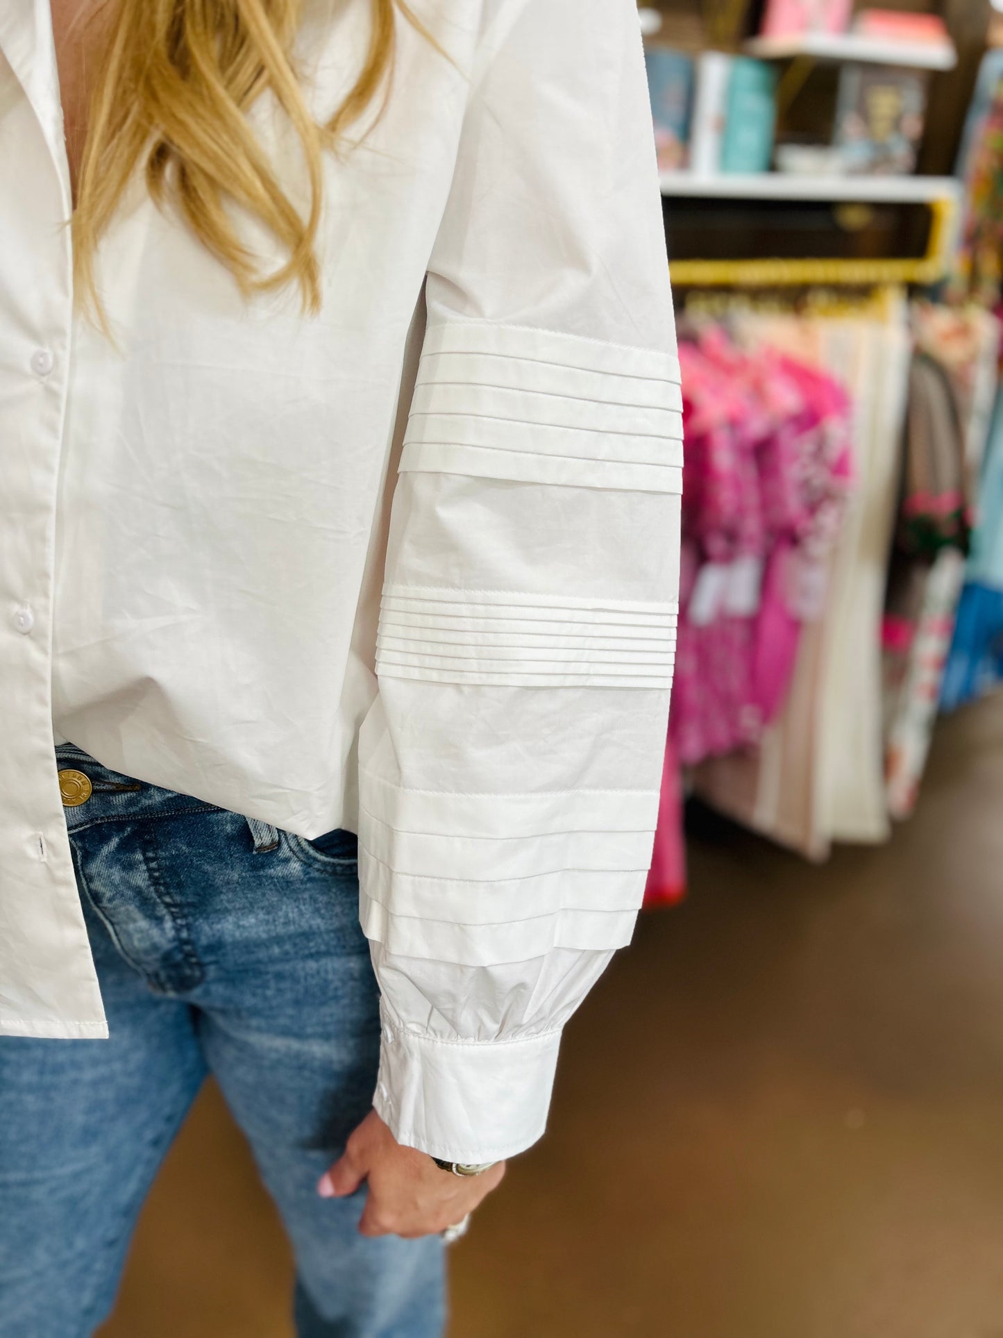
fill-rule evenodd
<path id="1" fill-rule="evenodd" d="M 382 1013 L 373 1108 L 397 1143 L 445 1161 L 502 1161 L 547 1124 L 560 1032 L 512 1041 L 443 1041 Z"/>

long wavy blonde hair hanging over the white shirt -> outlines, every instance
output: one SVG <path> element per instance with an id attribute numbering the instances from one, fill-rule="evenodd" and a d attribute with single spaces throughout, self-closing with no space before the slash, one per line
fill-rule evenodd
<path id="1" fill-rule="evenodd" d="M 78 294 L 103 321 L 94 276 L 98 242 L 140 163 L 158 205 L 169 198 L 245 293 L 296 282 L 304 308 L 320 308 L 316 254 L 321 154 L 338 151 L 388 82 L 397 11 L 428 36 L 407 0 L 369 0 L 369 48 L 326 124 L 310 115 L 292 59 L 304 0 L 111 0 L 107 55 L 90 99 L 74 210 Z M 361 0 L 358 0 L 361 3 Z M 309 207 L 297 210 L 246 119 L 269 90 L 302 146 Z M 278 240 L 285 262 L 262 273 L 223 207 L 229 199 Z"/>

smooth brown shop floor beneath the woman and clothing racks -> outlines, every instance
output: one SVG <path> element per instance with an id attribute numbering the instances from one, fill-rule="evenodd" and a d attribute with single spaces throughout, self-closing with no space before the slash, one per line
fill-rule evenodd
<path id="1" fill-rule="evenodd" d="M 455 1247 L 452 1338 L 1003 1338 L 1003 700 L 888 847 L 694 828 Z M 103 1338 L 289 1338 L 289 1279 L 210 1089 Z"/>

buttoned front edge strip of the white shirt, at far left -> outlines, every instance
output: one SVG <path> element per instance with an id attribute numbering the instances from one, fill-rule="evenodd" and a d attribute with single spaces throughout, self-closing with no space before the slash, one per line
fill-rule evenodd
<path id="1" fill-rule="evenodd" d="M 0 1033 L 103 1036 L 52 747 L 55 519 L 72 332 L 70 183 L 48 5 L 3 7 Z"/>

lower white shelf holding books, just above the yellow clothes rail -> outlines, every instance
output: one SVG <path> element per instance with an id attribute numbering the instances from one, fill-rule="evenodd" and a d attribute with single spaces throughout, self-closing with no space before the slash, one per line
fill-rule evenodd
<path id="1" fill-rule="evenodd" d="M 663 195 L 706 199 L 830 199 L 847 203 L 928 205 L 956 202 L 954 177 L 810 177 L 794 173 L 662 173 Z"/>

